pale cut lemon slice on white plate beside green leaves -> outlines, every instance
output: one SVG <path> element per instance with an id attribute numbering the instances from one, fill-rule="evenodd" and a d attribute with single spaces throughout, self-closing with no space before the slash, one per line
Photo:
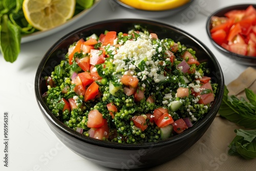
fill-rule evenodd
<path id="1" fill-rule="evenodd" d="M 75 0 L 24 0 L 23 12 L 34 28 L 48 30 L 70 19 L 75 5 Z"/>

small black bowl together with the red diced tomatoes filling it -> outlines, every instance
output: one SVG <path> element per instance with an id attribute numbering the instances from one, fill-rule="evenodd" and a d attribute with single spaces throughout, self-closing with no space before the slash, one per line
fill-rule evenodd
<path id="1" fill-rule="evenodd" d="M 256 66 L 256 4 L 241 4 L 212 13 L 206 24 L 214 46 L 237 62 Z"/>

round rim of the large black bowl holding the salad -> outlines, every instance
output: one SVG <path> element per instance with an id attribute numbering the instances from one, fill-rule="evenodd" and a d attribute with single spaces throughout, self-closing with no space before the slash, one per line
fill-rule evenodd
<path id="1" fill-rule="evenodd" d="M 42 70 L 44 69 L 44 66 L 46 65 L 46 62 L 49 59 L 50 54 L 53 52 L 54 48 L 58 44 L 60 44 L 61 41 L 65 40 L 66 38 L 72 36 L 73 34 L 79 32 L 79 31 L 82 31 L 84 29 L 87 29 L 87 28 L 90 28 L 90 27 L 93 27 L 96 25 L 113 23 L 113 22 L 150 24 L 150 25 L 165 27 L 166 29 L 175 30 L 176 32 L 182 33 L 184 36 L 186 36 L 190 39 L 193 39 L 193 41 L 195 41 L 196 44 L 198 44 L 200 47 L 202 47 L 202 49 L 210 56 L 210 58 L 214 62 L 214 65 L 220 71 L 220 73 L 218 75 L 218 79 L 220 79 L 221 84 L 218 86 L 219 87 L 218 98 L 216 98 L 216 100 L 212 103 L 212 107 L 208 111 L 207 115 L 204 116 L 196 125 L 194 125 L 190 129 L 186 130 L 182 134 L 176 135 L 174 137 L 170 137 L 166 140 L 160 140 L 157 142 L 145 142 L 145 143 L 138 143 L 138 144 L 126 144 L 126 143 L 102 141 L 102 140 L 98 140 L 98 139 L 94 139 L 94 138 L 82 135 L 82 134 L 76 132 L 75 130 L 70 129 L 68 126 L 66 126 L 64 123 L 62 123 L 60 120 L 58 120 L 53 114 L 51 114 L 51 111 L 49 110 L 48 106 L 45 104 L 44 99 L 42 98 L 42 94 L 40 93 L 40 81 L 41 81 Z M 215 117 L 217 115 L 217 112 L 219 110 L 221 100 L 223 97 L 223 93 L 224 93 L 224 76 L 223 76 L 223 72 L 221 70 L 220 64 L 219 64 L 217 58 L 214 56 L 214 54 L 199 39 L 197 39 L 196 37 L 190 35 L 189 33 L 185 32 L 175 26 L 172 26 L 172 25 L 167 25 L 167 24 L 164 24 L 161 22 L 156 22 L 154 20 L 149 20 L 149 19 L 134 19 L 134 18 L 109 19 L 109 20 L 104 20 L 104 21 L 100 21 L 100 22 L 95 22 L 95 23 L 88 24 L 86 26 L 82 26 L 82 27 L 66 34 L 65 36 L 63 36 L 62 38 L 57 40 L 51 46 L 51 48 L 45 53 L 44 57 L 39 62 L 38 69 L 35 74 L 35 82 L 34 83 L 35 83 L 36 100 L 37 100 L 38 106 L 39 106 L 42 114 L 48 120 L 50 120 L 59 130 L 61 130 L 62 132 L 65 132 L 66 134 L 69 134 L 70 136 L 72 136 L 78 140 L 81 140 L 83 142 L 98 145 L 98 146 L 103 146 L 103 147 L 107 147 L 107 148 L 116 148 L 116 149 L 140 149 L 140 148 L 151 148 L 151 147 L 164 146 L 164 145 L 168 145 L 170 143 L 175 143 L 175 142 L 179 141 L 180 139 L 183 139 L 187 135 L 197 132 L 199 129 L 201 129 L 201 126 L 204 126 L 205 124 L 207 124 L 208 120 L 212 119 L 213 117 Z"/>

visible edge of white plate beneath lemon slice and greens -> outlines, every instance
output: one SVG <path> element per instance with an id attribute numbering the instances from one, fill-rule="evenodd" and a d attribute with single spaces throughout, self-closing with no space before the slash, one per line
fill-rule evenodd
<path id="1" fill-rule="evenodd" d="M 75 23 L 78 19 L 80 19 L 82 16 L 86 15 L 94 7 L 96 7 L 99 4 L 100 1 L 101 0 L 95 0 L 94 5 L 91 8 L 83 10 L 82 12 L 78 13 L 72 19 L 68 20 L 66 23 L 64 23 L 62 25 L 59 25 L 59 26 L 57 26 L 55 28 L 52 28 L 50 30 L 37 31 L 37 32 L 34 32 L 34 33 L 23 36 L 22 37 L 22 43 L 33 41 L 33 40 L 36 40 L 36 39 L 39 39 L 39 38 L 42 38 L 42 37 L 49 36 L 53 33 L 56 33 L 56 32 L 58 32 L 58 31 L 60 31 L 64 28 L 70 26 L 71 24 Z"/>

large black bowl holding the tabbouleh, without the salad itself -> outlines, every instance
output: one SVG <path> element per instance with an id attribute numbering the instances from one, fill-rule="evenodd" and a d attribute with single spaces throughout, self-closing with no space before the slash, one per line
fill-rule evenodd
<path id="1" fill-rule="evenodd" d="M 134 25 L 146 27 L 159 38 L 173 38 L 197 52 L 199 61 L 207 61 L 213 83 L 218 83 L 218 92 L 212 108 L 197 124 L 182 134 L 155 143 L 120 144 L 84 136 L 61 123 L 48 109 L 42 94 L 47 91 L 45 76 L 65 57 L 69 45 L 81 37 L 105 30 L 127 32 Z M 161 23 L 141 19 L 116 19 L 81 27 L 59 39 L 42 58 L 35 76 L 35 94 L 39 108 L 54 134 L 73 152 L 99 165 L 113 168 L 142 168 L 159 165 L 171 160 L 197 142 L 214 120 L 223 96 L 224 78 L 215 56 L 198 39 L 188 33 Z M 195 156 L 196 157 L 196 156 Z M 181 161 L 182 162 L 182 161 Z"/>

